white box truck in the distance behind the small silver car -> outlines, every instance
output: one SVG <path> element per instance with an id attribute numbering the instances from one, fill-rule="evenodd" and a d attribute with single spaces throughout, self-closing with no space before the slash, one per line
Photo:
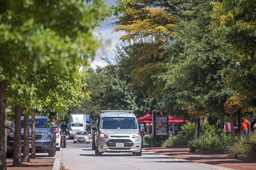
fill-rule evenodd
<path id="1" fill-rule="evenodd" d="M 84 113 L 69 114 L 69 139 L 73 139 L 78 131 L 86 131 L 86 115 Z"/>

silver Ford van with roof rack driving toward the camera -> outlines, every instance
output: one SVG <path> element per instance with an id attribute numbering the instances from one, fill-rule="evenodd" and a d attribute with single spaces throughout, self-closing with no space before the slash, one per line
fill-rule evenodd
<path id="1" fill-rule="evenodd" d="M 102 110 L 95 132 L 95 155 L 104 152 L 132 152 L 141 156 L 142 137 L 136 116 L 130 110 Z"/>

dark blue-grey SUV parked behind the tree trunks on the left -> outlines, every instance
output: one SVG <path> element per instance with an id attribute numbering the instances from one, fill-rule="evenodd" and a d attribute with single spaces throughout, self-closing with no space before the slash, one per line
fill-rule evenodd
<path id="1" fill-rule="evenodd" d="M 24 117 L 21 117 L 21 144 L 23 150 L 23 136 L 24 136 Z M 31 127 L 31 117 L 29 118 L 30 127 Z M 48 127 L 49 119 L 46 116 L 36 116 L 35 117 L 35 127 L 36 127 L 36 153 L 48 153 L 49 157 L 54 157 L 56 152 L 56 136 L 54 128 L 57 128 L 58 125 L 52 125 Z M 7 135 L 7 158 L 13 157 L 13 146 L 14 146 L 14 130 L 15 130 L 15 121 L 12 123 L 12 126 L 9 127 L 10 132 Z M 31 130 L 30 130 L 30 147 L 31 147 Z"/>

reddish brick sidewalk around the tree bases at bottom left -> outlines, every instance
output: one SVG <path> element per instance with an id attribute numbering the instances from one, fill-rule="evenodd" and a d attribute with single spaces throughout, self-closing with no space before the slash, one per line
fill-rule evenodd
<path id="1" fill-rule="evenodd" d="M 6 159 L 7 170 L 52 170 L 55 158 L 30 159 L 23 163 L 24 167 L 12 167 L 13 159 Z"/>

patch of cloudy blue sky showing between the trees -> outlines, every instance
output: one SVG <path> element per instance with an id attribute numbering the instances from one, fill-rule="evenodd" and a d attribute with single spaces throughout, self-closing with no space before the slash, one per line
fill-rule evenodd
<path id="1" fill-rule="evenodd" d="M 114 5 L 114 0 L 106 0 L 106 5 Z M 104 67 L 107 63 L 102 60 L 102 58 L 111 58 L 115 56 L 115 45 L 119 42 L 119 38 L 124 34 L 123 32 L 113 32 L 113 26 L 111 23 L 113 20 L 107 19 L 107 21 L 101 22 L 101 27 L 98 29 L 98 32 L 95 32 L 95 36 L 102 41 L 102 46 L 98 48 L 94 61 L 91 64 L 91 67 L 94 69 L 97 66 Z"/>

